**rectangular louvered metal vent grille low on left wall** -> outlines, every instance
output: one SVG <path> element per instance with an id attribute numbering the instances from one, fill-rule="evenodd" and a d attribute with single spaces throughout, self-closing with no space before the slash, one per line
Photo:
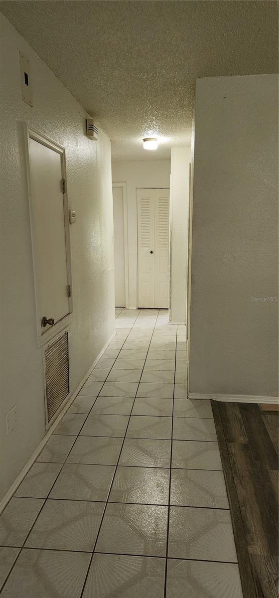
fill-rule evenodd
<path id="1" fill-rule="evenodd" d="M 64 332 L 45 349 L 47 422 L 69 394 L 69 337 Z"/>

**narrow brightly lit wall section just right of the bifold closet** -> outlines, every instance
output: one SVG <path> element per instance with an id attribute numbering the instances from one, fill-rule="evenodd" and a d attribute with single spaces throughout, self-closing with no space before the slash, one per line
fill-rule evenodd
<path id="1" fill-rule="evenodd" d="M 170 321 L 186 323 L 190 147 L 171 148 Z"/>

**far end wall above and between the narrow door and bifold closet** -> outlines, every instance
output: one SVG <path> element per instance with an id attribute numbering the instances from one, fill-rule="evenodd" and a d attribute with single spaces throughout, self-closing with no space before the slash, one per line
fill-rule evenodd
<path id="1" fill-rule="evenodd" d="M 112 161 L 112 181 L 127 182 L 129 307 L 136 307 L 137 188 L 170 187 L 170 160 Z"/>

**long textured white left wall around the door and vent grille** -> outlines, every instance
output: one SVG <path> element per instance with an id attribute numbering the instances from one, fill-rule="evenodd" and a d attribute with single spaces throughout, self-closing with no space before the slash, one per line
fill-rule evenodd
<path id="1" fill-rule="evenodd" d="M 22 122 L 66 148 L 73 319 L 70 386 L 78 386 L 114 331 L 111 147 L 100 131 L 85 136 L 85 112 L 1 16 L 1 495 L 45 434 L 41 350 L 36 316 Z M 18 48 L 32 66 L 33 102 L 21 99 Z M 5 414 L 17 405 L 7 436 Z"/>

